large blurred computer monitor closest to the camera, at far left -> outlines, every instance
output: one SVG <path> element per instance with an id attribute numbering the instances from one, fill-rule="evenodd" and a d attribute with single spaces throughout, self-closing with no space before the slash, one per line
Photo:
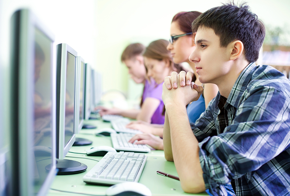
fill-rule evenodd
<path id="1" fill-rule="evenodd" d="M 57 172 L 54 36 L 26 9 L 10 35 L 10 191 L 46 195 Z"/>

